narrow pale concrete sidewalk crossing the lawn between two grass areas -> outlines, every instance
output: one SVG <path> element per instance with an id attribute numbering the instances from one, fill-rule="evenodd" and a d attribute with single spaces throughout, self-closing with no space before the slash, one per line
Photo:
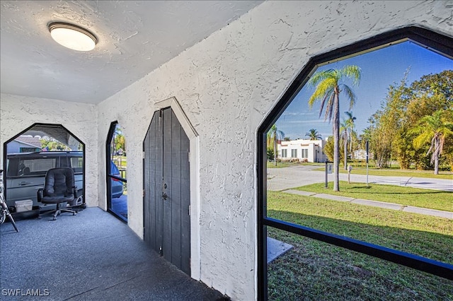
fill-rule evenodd
<path id="1" fill-rule="evenodd" d="M 379 207 L 379 208 L 385 208 L 385 209 L 391 209 L 391 210 L 418 213 L 418 214 L 423 214 L 425 216 L 437 216 L 440 218 L 448 218 L 450 220 L 453 219 L 453 212 L 450 212 L 450 211 L 440 211 L 440 210 L 435 210 L 435 209 L 406 206 L 406 205 L 401 205 L 398 203 L 386 203 L 386 202 L 382 202 L 382 201 L 354 199 L 354 198 L 350 198 L 347 196 L 334 196 L 332 194 L 316 194 L 315 192 L 300 191 L 300 190 L 295 190 L 295 189 L 282 190 L 282 192 L 286 192 L 288 194 L 298 194 L 299 196 L 314 196 L 315 198 L 329 199 L 332 201 L 344 201 L 344 202 L 348 202 L 348 203 L 358 203 L 360 205 L 365 205 L 365 206 L 373 206 L 373 207 Z"/>

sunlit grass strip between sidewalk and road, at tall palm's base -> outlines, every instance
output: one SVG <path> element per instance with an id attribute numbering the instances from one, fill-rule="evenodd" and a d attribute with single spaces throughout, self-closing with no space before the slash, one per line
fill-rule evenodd
<path id="1" fill-rule="evenodd" d="M 398 203 L 406 206 L 453 211 L 453 193 L 448 191 L 379 184 L 369 184 L 367 187 L 364 183 L 348 184 L 345 181 L 340 181 L 340 191 L 333 191 L 333 182 L 328 182 L 327 189 L 324 188 L 324 183 L 306 185 L 297 187 L 296 189 L 319 194 L 333 194 L 355 199 L 367 199 L 386 203 Z"/>

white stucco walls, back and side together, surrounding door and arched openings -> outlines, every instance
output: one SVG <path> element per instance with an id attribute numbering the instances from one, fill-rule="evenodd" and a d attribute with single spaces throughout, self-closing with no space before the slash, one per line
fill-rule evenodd
<path id="1" fill-rule="evenodd" d="M 268 1 L 101 102 L 97 124 L 92 106 L 69 104 L 77 119 L 55 100 L 43 105 L 1 95 L 1 141 L 34 122 L 63 124 L 86 143 L 88 197 L 97 196 L 105 209 L 105 140 L 117 120 L 127 141 L 129 225 L 142 237 L 142 141 L 156 102 L 175 97 L 199 134 L 195 278 L 234 300 L 253 300 L 256 130 L 265 114 L 310 57 L 405 25 L 452 35 L 451 7 L 452 1 Z"/>

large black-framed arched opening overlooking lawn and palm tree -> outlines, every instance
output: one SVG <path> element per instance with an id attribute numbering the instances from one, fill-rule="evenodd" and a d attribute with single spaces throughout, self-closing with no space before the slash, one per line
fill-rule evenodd
<path id="1" fill-rule="evenodd" d="M 430 178 L 416 180 L 430 145 L 413 142 L 423 134 L 424 122 L 437 114 L 445 124 L 453 122 L 451 45 L 452 37 L 402 28 L 310 59 L 289 85 L 258 129 L 259 300 L 374 299 L 382 291 L 389 295 L 379 297 L 402 292 L 403 299 L 424 290 L 438 296 L 452 293 L 453 259 L 447 245 L 453 234 L 448 226 L 453 217 L 448 160 L 453 153 L 444 149 L 440 165 L 448 171 L 445 175 L 432 176 L 432 163 L 425 174 Z M 356 71 L 362 76 L 360 88 L 353 85 Z M 340 110 L 329 107 L 337 97 L 336 85 L 329 83 L 342 72 L 348 87 L 340 90 L 356 88 L 356 105 L 365 102 L 362 109 L 350 110 L 345 101 L 350 93 L 340 94 Z M 324 79 L 328 81 L 320 86 Z M 349 115 L 353 126 L 346 131 Z M 324 117 L 333 117 L 332 122 Z M 337 126 L 335 137 L 333 124 L 341 124 L 340 117 L 344 124 Z M 333 138 L 326 141 L 326 136 Z M 344 160 L 339 160 L 343 150 Z M 332 175 L 326 161 L 336 161 Z M 398 168 L 390 168 L 396 162 Z M 390 165 L 389 173 L 384 163 Z M 345 180 L 350 173 L 351 184 Z M 428 187 L 430 182 L 437 187 Z M 376 193 L 369 194 L 372 189 Z M 424 203 L 425 196 L 430 201 Z M 282 256 L 273 260 L 270 254 L 275 253 Z M 398 285 L 398 292 L 387 282 Z"/>

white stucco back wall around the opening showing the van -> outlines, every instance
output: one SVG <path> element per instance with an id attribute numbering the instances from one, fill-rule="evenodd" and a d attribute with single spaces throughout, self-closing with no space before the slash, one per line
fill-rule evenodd
<path id="1" fill-rule="evenodd" d="M 87 206 L 98 206 L 98 149 L 96 105 L 27 96 L 0 95 L 0 161 L 3 144 L 35 123 L 62 124 L 85 143 Z"/>

